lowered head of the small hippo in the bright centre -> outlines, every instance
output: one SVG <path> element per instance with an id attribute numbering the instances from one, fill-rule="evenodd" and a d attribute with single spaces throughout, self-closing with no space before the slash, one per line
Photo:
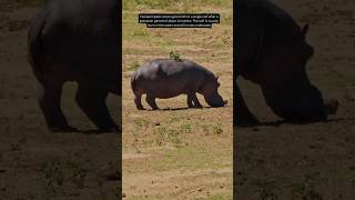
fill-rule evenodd
<path id="1" fill-rule="evenodd" d="M 227 103 L 227 101 L 224 101 L 220 96 L 219 88 L 219 77 L 211 76 L 202 89 L 201 93 L 211 107 L 224 107 L 224 104 Z"/>

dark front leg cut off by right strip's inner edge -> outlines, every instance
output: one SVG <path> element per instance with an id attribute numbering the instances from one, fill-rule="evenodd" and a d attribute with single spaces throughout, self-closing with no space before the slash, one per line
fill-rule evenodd
<path id="1" fill-rule="evenodd" d="M 236 89 L 236 107 L 235 107 L 235 123 L 237 126 L 251 126 L 258 124 L 258 120 L 254 114 L 248 110 L 239 86 Z"/>

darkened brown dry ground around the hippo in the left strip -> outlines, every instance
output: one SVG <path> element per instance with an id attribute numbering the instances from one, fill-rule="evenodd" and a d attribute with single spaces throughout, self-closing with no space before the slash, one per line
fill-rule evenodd
<path id="1" fill-rule="evenodd" d="M 38 2 L 21 2 L 31 7 L 0 1 L 0 199 L 115 199 L 118 182 L 105 174 L 118 166 L 118 137 L 95 133 L 74 103 L 74 83 L 64 87 L 63 110 L 87 133 L 45 128 L 27 61 L 28 26 Z M 118 119 L 119 99 L 108 102 Z"/>

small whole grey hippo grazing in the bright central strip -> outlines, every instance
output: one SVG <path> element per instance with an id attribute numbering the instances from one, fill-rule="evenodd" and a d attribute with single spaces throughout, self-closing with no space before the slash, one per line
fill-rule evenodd
<path id="1" fill-rule="evenodd" d="M 146 102 L 152 109 L 159 109 L 155 98 L 168 99 L 180 94 L 187 94 L 189 108 L 201 108 L 196 92 L 204 96 L 211 107 L 223 107 L 219 94 L 220 83 L 207 69 L 190 60 L 156 59 L 139 68 L 131 78 L 134 103 L 143 110 L 142 94 L 146 94 Z"/>

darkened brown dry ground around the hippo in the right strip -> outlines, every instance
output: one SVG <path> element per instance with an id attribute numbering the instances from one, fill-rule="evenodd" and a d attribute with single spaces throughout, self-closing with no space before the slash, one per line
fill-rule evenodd
<path id="1" fill-rule="evenodd" d="M 307 67 L 324 97 L 339 100 L 328 122 L 278 124 L 258 88 L 241 81 L 254 113 L 270 126 L 236 128 L 239 199 L 355 198 L 355 2 L 275 0 L 310 23 L 315 56 Z M 274 126 L 273 126 L 274 124 Z"/>

